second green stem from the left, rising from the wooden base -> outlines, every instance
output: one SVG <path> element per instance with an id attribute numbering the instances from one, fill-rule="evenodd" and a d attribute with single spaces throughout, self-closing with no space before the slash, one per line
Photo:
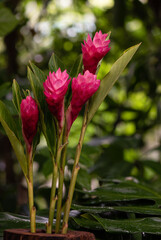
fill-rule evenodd
<path id="1" fill-rule="evenodd" d="M 55 196 L 56 193 L 56 183 L 57 183 L 57 178 L 58 178 L 58 168 L 59 168 L 59 161 L 60 161 L 60 156 L 61 156 L 61 151 L 62 151 L 62 133 L 59 134 L 58 137 L 58 143 L 57 143 L 57 152 L 56 152 L 56 159 L 53 160 L 53 178 L 52 178 L 52 188 L 51 188 L 51 195 L 50 195 L 50 207 L 49 207 L 49 220 L 46 225 L 46 232 L 47 233 L 52 233 L 52 228 L 53 228 L 53 219 L 54 219 L 54 212 L 55 212 L 55 204 L 57 197 Z"/>

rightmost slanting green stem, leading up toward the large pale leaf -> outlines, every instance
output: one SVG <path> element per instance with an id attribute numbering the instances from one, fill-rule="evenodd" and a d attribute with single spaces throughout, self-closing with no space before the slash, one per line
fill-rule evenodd
<path id="1" fill-rule="evenodd" d="M 83 140 L 84 140 L 84 136 L 85 136 L 85 132 L 86 132 L 86 128 L 87 128 L 88 106 L 89 106 L 89 102 L 86 103 L 81 134 L 80 134 L 79 142 L 78 142 L 77 149 L 76 149 L 75 161 L 74 161 L 74 166 L 73 166 L 73 170 L 72 170 L 72 177 L 71 177 L 71 182 L 70 182 L 69 191 L 68 191 L 68 197 L 67 197 L 65 211 L 64 211 L 63 228 L 62 228 L 63 234 L 66 234 L 67 230 L 68 230 L 69 212 L 70 212 L 71 203 L 72 203 L 72 199 L 73 199 L 74 188 L 75 188 L 75 184 L 76 184 L 76 180 L 77 180 L 78 171 L 80 169 L 79 158 L 80 158 Z"/>

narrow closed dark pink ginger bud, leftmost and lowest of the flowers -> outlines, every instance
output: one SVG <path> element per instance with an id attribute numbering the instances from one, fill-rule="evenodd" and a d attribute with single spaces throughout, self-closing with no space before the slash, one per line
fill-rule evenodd
<path id="1" fill-rule="evenodd" d="M 39 110 L 37 103 L 31 96 L 27 96 L 20 104 L 22 133 L 27 145 L 28 152 L 31 150 L 33 138 L 37 131 Z"/>

